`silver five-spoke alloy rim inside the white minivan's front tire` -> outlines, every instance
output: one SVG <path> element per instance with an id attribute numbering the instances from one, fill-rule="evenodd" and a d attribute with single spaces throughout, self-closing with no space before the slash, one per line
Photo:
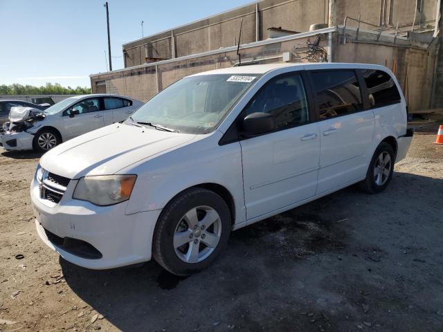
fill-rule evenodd
<path id="1" fill-rule="evenodd" d="M 186 263 L 198 263 L 217 248 L 221 237 L 220 216 L 209 206 L 197 206 L 183 215 L 174 231 L 174 250 Z"/>

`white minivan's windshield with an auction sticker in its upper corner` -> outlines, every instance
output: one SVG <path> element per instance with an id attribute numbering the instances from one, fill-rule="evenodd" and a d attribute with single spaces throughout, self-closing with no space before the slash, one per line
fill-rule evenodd
<path id="1" fill-rule="evenodd" d="M 132 115 L 181 133 L 209 133 L 259 75 L 199 75 L 168 86 Z"/>

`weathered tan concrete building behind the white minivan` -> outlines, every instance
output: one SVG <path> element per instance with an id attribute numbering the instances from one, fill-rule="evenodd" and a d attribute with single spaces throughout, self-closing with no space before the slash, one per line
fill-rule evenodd
<path id="1" fill-rule="evenodd" d="M 263 0 L 124 44 L 125 68 L 91 75 L 91 88 L 148 100 L 186 75 L 237 65 L 239 43 L 242 64 L 383 64 L 410 111 L 443 107 L 441 7 L 440 0 Z"/>

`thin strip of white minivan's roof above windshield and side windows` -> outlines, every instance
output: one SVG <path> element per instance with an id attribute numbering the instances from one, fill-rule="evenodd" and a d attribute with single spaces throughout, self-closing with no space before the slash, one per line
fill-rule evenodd
<path id="1" fill-rule="evenodd" d="M 333 68 L 378 68 L 386 71 L 386 67 L 374 65 L 374 64 L 345 64 L 338 62 L 316 62 L 316 63 L 305 63 L 300 62 L 297 64 L 293 63 L 284 63 L 284 64 L 253 64 L 250 66 L 236 66 L 236 67 L 228 67 L 215 69 L 213 71 L 204 71 L 202 73 L 197 73 L 190 76 L 198 76 L 198 75 L 215 75 L 215 74 L 264 74 L 269 71 L 273 71 L 278 68 L 283 67 L 294 67 L 294 69 L 298 66 L 309 66 L 313 67 L 312 69 L 333 69 Z"/>

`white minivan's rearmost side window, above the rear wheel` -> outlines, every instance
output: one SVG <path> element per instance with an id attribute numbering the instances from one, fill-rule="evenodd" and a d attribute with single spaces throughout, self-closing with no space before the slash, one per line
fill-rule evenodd
<path id="1" fill-rule="evenodd" d="M 392 77 L 384 71 L 362 71 L 368 87 L 369 101 L 372 107 L 382 107 L 400 102 L 400 93 Z"/>

